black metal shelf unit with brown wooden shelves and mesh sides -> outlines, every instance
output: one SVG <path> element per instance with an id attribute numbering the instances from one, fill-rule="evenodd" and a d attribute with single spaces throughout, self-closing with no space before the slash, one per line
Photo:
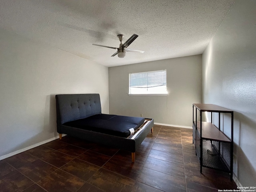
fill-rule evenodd
<path id="1" fill-rule="evenodd" d="M 198 112 L 200 120 L 198 120 Z M 202 112 L 211 113 L 211 122 L 202 121 Z M 212 114 L 218 113 L 218 128 L 212 122 Z M 220 130 L 220 114 L 231 114 L 231 134 L 228 138 Z M 233 121 L 232 110 L 213 104 L 193 104 L 193 143 L 196 155 L 202 167 L 222 170 L 230 173 L 230 180 L 233 178 Z"/>

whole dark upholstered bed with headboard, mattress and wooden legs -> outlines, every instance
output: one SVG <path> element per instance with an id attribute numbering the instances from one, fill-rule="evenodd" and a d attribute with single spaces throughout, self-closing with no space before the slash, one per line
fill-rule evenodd
<path id="1" fill-rule="evenodd" d="M 56 98 L 57 132 L 135 152 L 153 132 L 154 119 L 101 113 L 99 94 L 58 94 Z"/>

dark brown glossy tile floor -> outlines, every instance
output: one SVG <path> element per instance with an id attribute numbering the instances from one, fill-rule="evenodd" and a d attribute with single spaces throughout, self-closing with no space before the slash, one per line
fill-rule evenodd
<path id="1" fill-rule="evenodd" d="M 65 136 L 0 161 L 1 192 L 217 192 L 229 174 L 200 166 L 192 130 L 154 126 L 131 153 Z"/>

